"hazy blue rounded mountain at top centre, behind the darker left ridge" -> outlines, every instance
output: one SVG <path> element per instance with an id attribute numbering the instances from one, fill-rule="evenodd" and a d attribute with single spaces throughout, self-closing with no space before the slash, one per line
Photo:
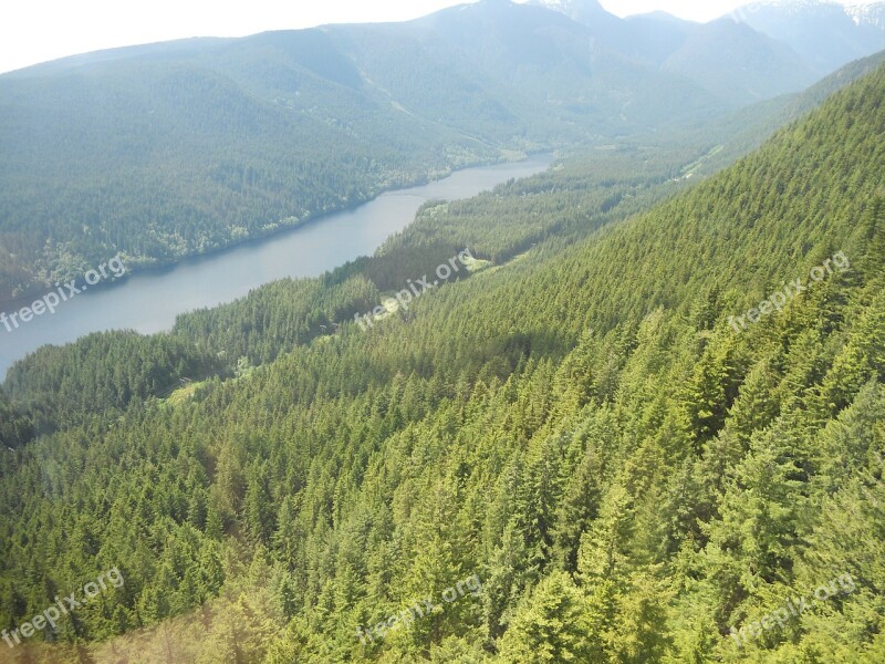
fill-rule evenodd
<path id="1" fill-rule="evenodd" d="M 393 29 L 456 71 L 517 87 L 544 110 L 544 122 L 562 118 L 585 135 L 671 126 L 722 108 L 699 86 L 606 46 L 595 28 L 533 6 L 477 2 Z"/>

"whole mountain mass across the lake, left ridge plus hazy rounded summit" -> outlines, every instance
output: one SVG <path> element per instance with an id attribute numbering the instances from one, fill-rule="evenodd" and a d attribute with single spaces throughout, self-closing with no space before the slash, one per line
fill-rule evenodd
<path id="1" fill-rule="evenodd" d="M 0 76 L 0 300 L 107 256 L 174 262 L 459 166 L 728 107 L 594 39 L 561 13 L 482 0 Z"/>

